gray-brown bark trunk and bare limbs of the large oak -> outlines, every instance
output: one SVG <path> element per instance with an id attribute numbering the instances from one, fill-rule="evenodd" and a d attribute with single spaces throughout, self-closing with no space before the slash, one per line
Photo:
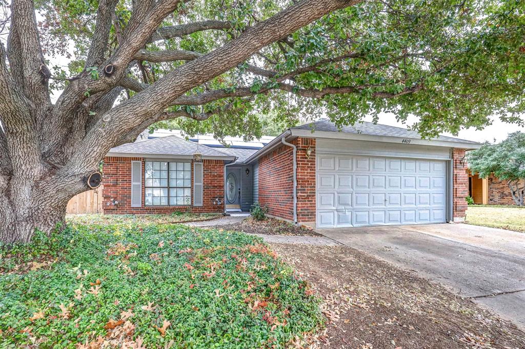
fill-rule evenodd
<path id="1" fill-rule="evenodd" d="M 126 27 L 117 28 L 118 45 L 109 52 L 108 40 L 115 25 L 118 2 L 101 0 L 85 69 L 71 79 L 56 103 L 51 103 L 50 73 L 40 46 L 33 0 L 12 0 L 7 47 L 0 42 L 1 242 L 27 243 L 35 229 L 53 231 L 64 221 L 69 199 L 89 189 L 87 178 L 97 170 L 107 152 L 133 141 L 148 125 L 178 116 L 201 120 L 213 115 L 170 113 L 166 107 L 204 104 L 228 97 L 221 91 L 192 97 L 185 95 L 187 91 L 236 68 L 270 43 L 283 40 L 312 21 L 359 0 L 294 2 L 207 54 L 146 51 L 148 42 L 231 27 L 215 20 L 159 27 L 167 15 L 187 2 L 190 1 L 133 2 L 133 13 Z M 186 63 L 147 84 L 128 79 L 135 60 Z M 113 68 L 110 73 L 104 71 L 108 66 Z M 93 69 L 98 71 L 97 78 L 93 78 Z M 249 69 L 264 76 L 272 74 L 257 67 Z M 285 84 L 279 88 L 291 89 Z M 114 106 L 123 89 L 140 92 Z M 239 91 L 239 95 L 250 95 L 245 90 Z"/>

